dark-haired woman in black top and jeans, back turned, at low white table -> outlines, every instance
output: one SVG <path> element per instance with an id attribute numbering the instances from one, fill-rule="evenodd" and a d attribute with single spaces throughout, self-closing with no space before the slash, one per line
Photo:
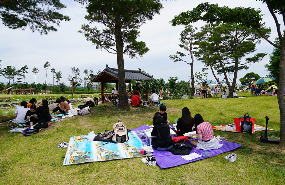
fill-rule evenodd
<path id="1" fill-rule="evenodd" d="M 160 115 L 154 115 L 153 118 L 153 129 L 152 136 L 157 138 L 152 138 L 152 147 L 159 151 L 167 151 L 173 148 L 174 142 L 170 136 L 169 125 L 164 123 L 164 120 Z"/>

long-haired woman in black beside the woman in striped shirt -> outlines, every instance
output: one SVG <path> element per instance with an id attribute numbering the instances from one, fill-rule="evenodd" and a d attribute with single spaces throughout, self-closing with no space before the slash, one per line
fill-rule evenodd
<path id="1" fill-rule="evenodd" d="M 176 125 L 177 131 L 179 131 L 177 136 L 183 136 L 183 134 L 187 132 L 196 131 L 196 128 L 193 128 L 194 125 L 195 120 L 192 117 L 191 112 L 187 107 L 184 107 L 182 109 L 182 118 L 178 119 Z"/>

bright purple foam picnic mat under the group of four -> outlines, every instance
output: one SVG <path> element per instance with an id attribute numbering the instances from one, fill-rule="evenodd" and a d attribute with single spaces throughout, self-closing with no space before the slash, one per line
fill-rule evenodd
<path id="1" fill-rule="evenodd" d="M 134 129 L 131 129 L 133 131 L 136 131 L 136 130 L 146 130 L 148 128 L 151 128 L 147 125 L 142 125 L 138 128 L 134 128 Z M 139 136 L 141 137 L 141 136 Z M 143 142 L 147 142 L 146 139 L 141 139 Z M 198 140 L 198 139 L 196 139 Z M 187 141 L 187 143 L 190 144 L 190 141 Z M 221 154 L 221 153 L 224 153 L 224 152 L 227 152 L 227 151 L 231 151 L 231 150 L 234 150 L 236 148 L 239 148 L 240 146 L 242 146 L 242 144 L 237 144 L 237 143 L 231 143 L 231 142 L 228 142 L 228 141 L 224 141 L 222 140 L 221 142 L 219 143 L 223 143 L 224 145 L 219 148 L 219 149 L 215 149 L 215 150 L 208 150 L 208 152 L 212 152 L 212 155 L 211 156 L 205 156 L 205 157 L 198 157 L 196 159 L 193 159 L 193 160 L 190 160 L 190 161 L 187 161 L 185 159 L 183 159 L 182 157 L 180 157 L 180 155 L 174 155 L 172 154 L 171 152 L 169 151 L 158 151 L 158 150 L 154 150 L 153 152 L 153 157 L 155 157 L 156 159 L 156 164 L 159 165 L 160 168 L 169 168 L 169 167 L 175 167 L 175 166 L 179 166 L 181 164 L 187 164 L 187 163 L 191 163 L 191 162 L 194 162 L 194 161 L 198 161 L 198 160 L 201 160 L 201 159 L 205 159 L 207 157 L 213 157 L 213 156 L 216 156 L 218 154 Z M 205 150 L 199 150 L 199 149 L 196 149 L 196 148 L 193 148 L 191 150 L 191 154 L 192 153 L 197 153 L 197 154 L 201 154 L 203 152 L 205 152 Z"/>

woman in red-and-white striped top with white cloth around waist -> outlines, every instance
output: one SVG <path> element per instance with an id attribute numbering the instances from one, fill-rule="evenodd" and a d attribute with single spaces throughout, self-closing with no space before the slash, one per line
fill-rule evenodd
<path id="1" fill-rule="evenodd" d="M 223 146 L 223 144 L 219 144 L 219 141 L 214 136 L 212 125 L 209 122 L 204 122 L 200 114 L 196 114 L 194 120 L 197 134 L 192 135 L 196 136 L 199 140 L 191 140 L 190 142 L 193 146 L 196 146 L 200 150 L 213 150 Z"/>

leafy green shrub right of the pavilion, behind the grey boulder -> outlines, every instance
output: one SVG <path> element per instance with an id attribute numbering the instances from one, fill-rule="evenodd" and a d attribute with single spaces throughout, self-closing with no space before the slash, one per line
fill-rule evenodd
<path id="1" fill-rule="evenodd" d="M 173 99 L 181 99 L 184 94 L 190 96 L 190 88 L 191 85 L 189 82 L 185 82 L 184 80 L 178 81 L 178 77 L 170 77 L 168 83 L 166 83 L 165 89 L 171 92 Z M 163 93 L 165 95 L 166 92 Z"/>

